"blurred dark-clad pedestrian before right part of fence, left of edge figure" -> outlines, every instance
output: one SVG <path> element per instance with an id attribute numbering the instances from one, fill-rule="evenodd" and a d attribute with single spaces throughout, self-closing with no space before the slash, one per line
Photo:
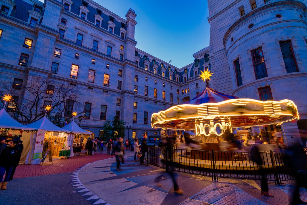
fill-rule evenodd
<path id="1" fill-rule="evenodd" d="M 255 162 L 258 166 L 259 175 L 261 175 L 261 194 L 269 197 L 274 197 L 274 195 L 269 194 L 269 185 L 266 179 L 266 171 L 262 168 L 262 158 L 260 156 L 258 144 L 262 144 L 260 139 L 255 140 L 255 145 L 251 148 L 251 160 Z"/>

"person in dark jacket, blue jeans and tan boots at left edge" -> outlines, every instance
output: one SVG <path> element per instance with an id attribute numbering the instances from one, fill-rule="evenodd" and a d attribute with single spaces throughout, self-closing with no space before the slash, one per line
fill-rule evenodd
<path id="1" fill-rule="evenodd" d="M 17 139 L 16 139 L 17 138 Z M 10 178 L 11 171 L 14 166 L 14 160 L 16 160 L 16 156 L 18 152 L 20 152 L 20 148 L 18 147 L 19 137 L 15 137 L 14 141 L 10 141 L 8 146 L 2 150 L 0 155 L 0 184 L 1 190 L 7 189 L 7 181 Z M 5 178 L 2 182 L 3 176 L 5 173 Z"/>

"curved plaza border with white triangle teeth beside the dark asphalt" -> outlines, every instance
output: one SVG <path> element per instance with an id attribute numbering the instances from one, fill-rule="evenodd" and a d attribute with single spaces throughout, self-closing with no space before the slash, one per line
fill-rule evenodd
<path id="1" fill-rule="evenodd" d="M 109 160 L 110 158 L 104 159 L 104 160 Z M 75 171 L 72 172 L 72 174 L 69 177 L 69 181 L 72 184 L 72 187 L 76 190 L 76 192 L 78 192 L 88 203 L 91 204 L 97 204 L 97 205 L 111 205 L 109 203 L 107 203 L 106 201 L 104 201 L 103 199 L 101 199 L 99 196 L 95 195 L 93 192 L 91 192 L 90 190 L 88 190 L 80 181 L 78 175 L 79 175 L 79 171 L 81 171 L 84 167 L 90 165 L 90 164 L 94 164 L 96 162 L 100 162 L 103 160 L 97 160 L 95 162 L 91 162 L 88 164 L 84 164 L 83 166 L 77 168 Z"/>

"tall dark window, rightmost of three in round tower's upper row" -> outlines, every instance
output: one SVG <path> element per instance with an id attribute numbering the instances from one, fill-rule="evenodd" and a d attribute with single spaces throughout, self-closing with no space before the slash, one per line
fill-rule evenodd
<path id="1" fill-rule="evenodd" d="M 287 73 L 298 72 L 291 41 L 279 41 Z"/>

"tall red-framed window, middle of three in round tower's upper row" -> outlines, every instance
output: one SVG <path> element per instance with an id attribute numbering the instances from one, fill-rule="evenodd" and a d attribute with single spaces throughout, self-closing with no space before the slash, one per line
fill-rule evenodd
<path id="1" fill-rule="evenodd" d="M 262 48 L 251 51 L 256 79 L 267 77 Z"/>

